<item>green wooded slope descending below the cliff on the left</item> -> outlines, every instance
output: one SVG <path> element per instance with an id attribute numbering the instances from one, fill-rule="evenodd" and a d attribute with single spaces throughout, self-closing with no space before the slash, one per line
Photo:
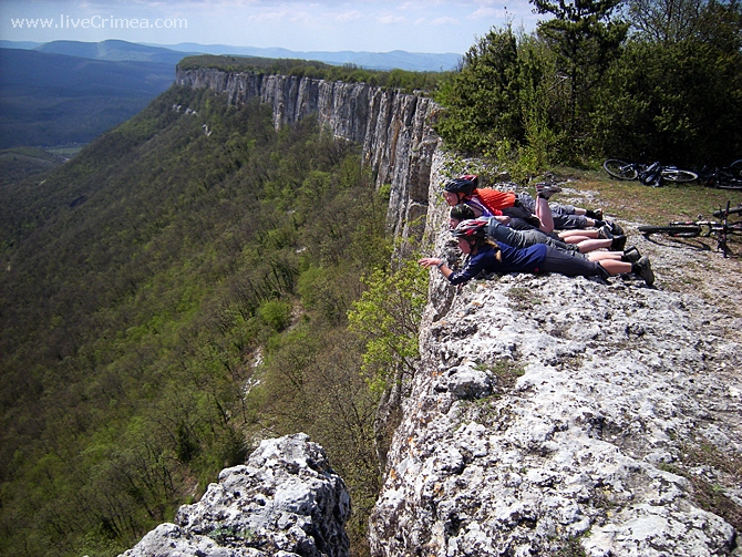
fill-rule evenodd
<path id="1" fill-rule="evenodd" d="M 387 206 L 315 120 L 276 132 L 267 106 L 178 87 L 3 186 L 0 553 L 116 555 L 303 431 L 362 555 L 380 390 L 348 311 L 389 271 Z"/>

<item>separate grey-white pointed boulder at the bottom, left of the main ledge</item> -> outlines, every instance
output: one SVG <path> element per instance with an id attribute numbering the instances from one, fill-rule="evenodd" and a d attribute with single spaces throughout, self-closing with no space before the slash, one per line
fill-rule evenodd
<path id="1" fill-rule="evenodd" d="M 303 433 L 267 440 L 226 468 L 176 524 L 147 534 L 124 557 L 347 557 L 350 496 L 321 446 Z"/>

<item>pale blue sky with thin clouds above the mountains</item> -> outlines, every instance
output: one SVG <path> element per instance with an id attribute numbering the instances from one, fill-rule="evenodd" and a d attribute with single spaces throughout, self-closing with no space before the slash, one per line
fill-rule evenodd
<path id="1" fill-rule="evenodd" d="M 0 0 L 0 39 L 463 54 L 537 18 L 527 0 Z"/>

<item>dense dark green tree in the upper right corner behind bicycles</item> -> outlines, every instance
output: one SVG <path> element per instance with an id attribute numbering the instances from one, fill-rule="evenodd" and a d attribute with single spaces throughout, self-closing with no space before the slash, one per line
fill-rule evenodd
<path id="1" fill-rule="evenodd" d="M 651 25 L 632 21 L 635 33 L 606 73 L 590 118 L 597 148 L 683 165 L 728 164 L 742 148 L 740 4 L 708 2 L 683 21 L 687 28 L 670 16 L 659 22 L 661 7 L 676 4 L 642 6 L 658 16 Z"/>

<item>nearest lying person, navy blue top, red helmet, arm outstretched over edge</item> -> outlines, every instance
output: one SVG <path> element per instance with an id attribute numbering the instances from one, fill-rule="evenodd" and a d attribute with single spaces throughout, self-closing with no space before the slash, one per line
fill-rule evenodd
<path id="1" fill-rule="evenodd" d="M 458 249 L 467 256 L 466 266 L 458 271 L 452 270 L 443 259 L 424 257 L 418 262 L 425 268 L 435 267 L 452 285 L 462 285 L 472 280 L 480 272 L 557 272 L 567 277 L 600 277 L 607 279 L 612 275 L 635 274 L 647 286 L 655 282 L 649 258 L 642 256 L 637 262 L 605 259 L 589 261 L 581 257 L 574 257 L 565 251 L 536 244 L 517 249 L 507 244 L 487 238 L 488 220 L 463 220 L 453 230 L 458 239 Z"/>

